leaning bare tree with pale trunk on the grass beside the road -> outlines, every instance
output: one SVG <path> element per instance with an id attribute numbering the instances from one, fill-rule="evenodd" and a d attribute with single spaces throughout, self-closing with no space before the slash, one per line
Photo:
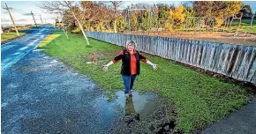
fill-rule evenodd
<path id="1" fill-rule="evenodd" d="M 78 23 L 79 28 L 87 41 L 87 45 L 90 45 L 90 43 L 87 39 L 87 35 L 85 34 L 84 28 L 80 24 L 80 21 L 78 18 L 80 13 L 83 12 L 79 9 L 79 3 L 76 3 L 75 1 L 46 1 L 46 2 L 42 2 L 38 6 L 41 9 L 49 11 L 49 12 L 58 11 L 58 12 L 62 12 L 62 13 L 64 13 L 64 12 L 71 13 L 73 19 L 75 19 L 76 22 Z"/>

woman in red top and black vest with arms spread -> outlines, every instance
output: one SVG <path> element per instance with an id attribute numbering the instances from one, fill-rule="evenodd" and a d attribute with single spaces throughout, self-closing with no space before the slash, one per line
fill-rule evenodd
<path id="1" fill-rule="evenodd" d="M 109 66 L 113 63 L 117 63 L 118 61 L 122 60 L 122 78 L 124 80 L 124 95 L 128 97 L 129 95 L 132 96 L 132 86 L 134 81 L 140 73 L 140 63 L 144 62 L 147 64 L 152 65 L 154 71 L 157 70 L 157 66 L 154 63 L 151 63 L 147 60 L 145 56 L 141 56 L 139 51 L 136 49 L 136 42 L 129 40 L 126 41 L 126 48 L 122 50 L 118 56 L 116 56 L 112 61 L 108 64 L 103 65 L 103 71 L 107 71 Z"/>

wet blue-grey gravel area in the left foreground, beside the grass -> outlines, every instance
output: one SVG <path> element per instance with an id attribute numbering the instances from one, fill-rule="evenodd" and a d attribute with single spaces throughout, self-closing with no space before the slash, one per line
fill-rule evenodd
<path id="1" fill-rule="evenodd" d="M 2 75 L 2 133 L 99 133 L 115 106 L 91 79 L 33 51 Z"/>

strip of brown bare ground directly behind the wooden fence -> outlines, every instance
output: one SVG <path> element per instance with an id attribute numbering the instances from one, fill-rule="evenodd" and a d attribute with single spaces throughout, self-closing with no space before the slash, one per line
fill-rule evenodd
<path id="1" fill-rule="evenodd" d="M 162 36 L 162 37 L 171 37 L 171 38 L 181 38 L 181 39 L 189 39 L 189 40 L 199 40 L 199 41 L 213 41 L 213 42 L 221 42 L 221 43 L 230 43 L 237 45 L 248 45 L 248 46 L 256 46 L 256 40 L 252 41 L 256 35 L 249 34 L 247 37 L 245 33 L 239 33 L 237 36 L 234 36 L 234 33 L 227 32 L 176 32 L 176 33 L 167 33 L 160 32 L 159 35 L 157 33 L 152 32 L 148 33 L 139 33 L 132 32 L 132 34 L 139 35 L 150 35 L 150 36 Z M 245 39 L 246 37 L 246 39 Z"/>

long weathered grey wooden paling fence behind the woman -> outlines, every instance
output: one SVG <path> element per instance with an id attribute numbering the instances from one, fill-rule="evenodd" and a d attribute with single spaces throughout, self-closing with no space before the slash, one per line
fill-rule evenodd
<path id="1" fill-rule="evenodd" d="M 125 41 L 133 40 L 137 42 L 139 51 L 256 84 L 256 47 L 147 35 L 86 34 L 123 47 Z"/>

